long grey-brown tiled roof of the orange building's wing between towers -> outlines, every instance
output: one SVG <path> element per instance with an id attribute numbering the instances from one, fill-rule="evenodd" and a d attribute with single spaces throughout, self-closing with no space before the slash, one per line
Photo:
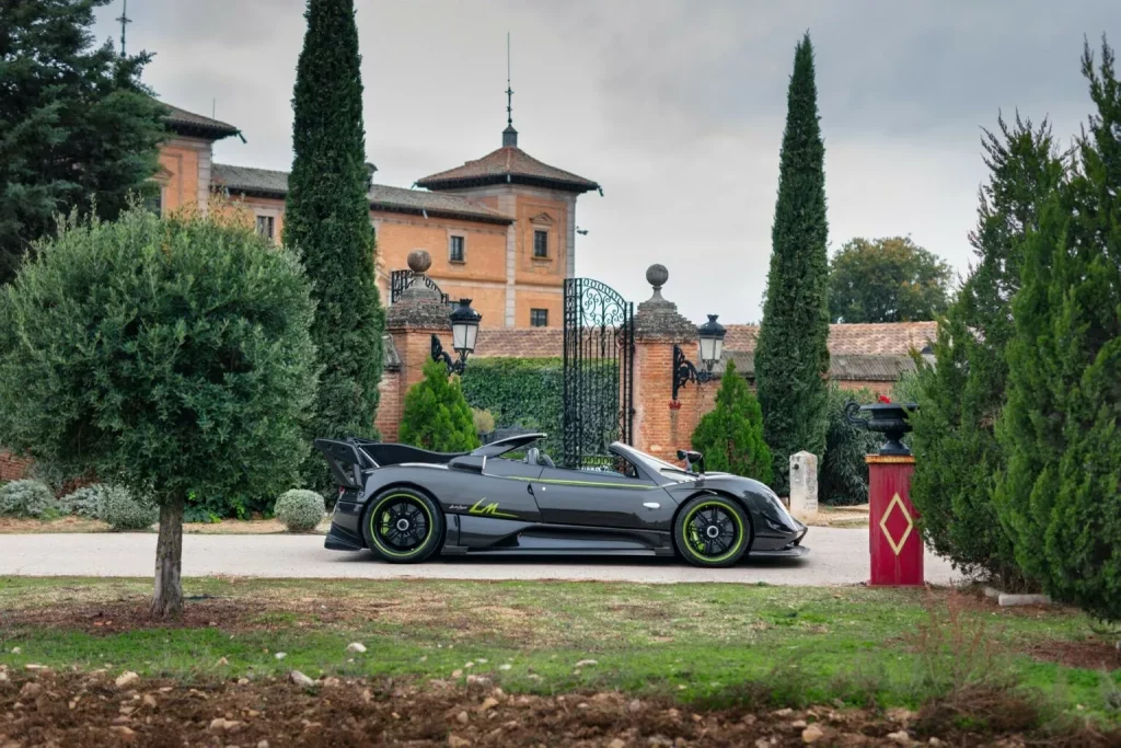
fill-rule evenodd
<path id="1" fill-rule="evenodd" d="M 232 192 L 284 197 L 288 193 L 288 173 L 259 169 L 250 166 L 214 164 L 215 184 Z M 512 223 L 503 213 L 458 195 L 447 195 L 423 190 L 405 190 L 376 184 L 370 187 L 370 207 L 397 213 L 430 213 L 451 218 L 465 218 L 489 223 Z"/>

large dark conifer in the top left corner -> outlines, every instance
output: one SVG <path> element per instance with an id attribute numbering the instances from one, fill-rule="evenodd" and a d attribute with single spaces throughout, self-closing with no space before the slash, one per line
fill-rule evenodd
<path id="1" fill-rule="evenodd" d="M 166 110 L 139 82 L 150 54 L 93 47 L 108 3 L 0 3 L 0 284 L 59 211 L 115 218 L 152 187 Z"/>

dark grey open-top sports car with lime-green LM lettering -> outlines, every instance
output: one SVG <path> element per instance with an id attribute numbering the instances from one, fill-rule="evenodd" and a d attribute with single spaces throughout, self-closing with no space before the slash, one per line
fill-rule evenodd
<path id="1" fill-rule="evenodd" d="M 441 454 L 367 440 L 316 440 L 339 482 L 326 547 L 370 548 L 395 563 L 455 554 L 680 554 L 730 566 L 747 553 L 800 556 L 806 526 L 762 483 L 687 469 L 626 444 L 614 470 L 565 470 L 532 444 L 504 438 Z M 503 458 L 524 452 L 520 460 Z"/>

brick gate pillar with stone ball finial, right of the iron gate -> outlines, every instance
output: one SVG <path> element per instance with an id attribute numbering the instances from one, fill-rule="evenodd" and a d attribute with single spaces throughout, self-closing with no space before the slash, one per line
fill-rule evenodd
<path id="1" fill-rule="evenodd" d="M 674 345 L 691 351 L 697 345 L 696 325 L 661 296 L 669 279 L 663 265 L 651 265 L 646 280 L 654 295 L 634 314 L 634 446 L 667 462 L 677 462 L 677 450 L 688 449 L 701 418 L 700 388 L 686 387 L 673 399 Z"/>

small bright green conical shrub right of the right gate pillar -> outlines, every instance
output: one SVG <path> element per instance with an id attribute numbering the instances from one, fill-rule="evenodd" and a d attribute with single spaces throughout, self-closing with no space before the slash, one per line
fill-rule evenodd
<path id="1" fill-rule="evenodd" d="M 763 441 L 763 414 L 747 380 L 729 361 L 720 379 L 716 405 L 693 432 L 693 449 L 705 469 L 771 482 L 771 454 Z"/>

